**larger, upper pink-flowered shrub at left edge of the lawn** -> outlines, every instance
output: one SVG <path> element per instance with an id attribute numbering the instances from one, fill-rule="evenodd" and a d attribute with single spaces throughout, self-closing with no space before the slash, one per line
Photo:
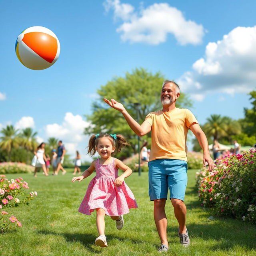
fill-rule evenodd
<path id="1" fill-rule="evenodd" d="M 37 192 L 30 192 L 25 196 L 24 190 L 28 189 L 28 183 L 22 178 L 8 180 L 0 175 L 0 208 L 18 206 L 27 203 L 37 196 Z"/>

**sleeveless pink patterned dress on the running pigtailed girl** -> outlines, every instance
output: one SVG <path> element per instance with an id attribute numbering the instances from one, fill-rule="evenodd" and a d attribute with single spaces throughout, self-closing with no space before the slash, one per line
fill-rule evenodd
<path id="1" fill-rule="evenodd" d="M 94 209 L 103 208 L 106 215 L 118 216 L 128 213 L 129 208 L 137 208 L 134 195 L 125 182 L 119 187 L 115 185 L 118 177 L 115 158 L 106 165 L 99 161 L 96 161 L 96 176 L 88 185 L 78 212 L 90 215 Z"/>

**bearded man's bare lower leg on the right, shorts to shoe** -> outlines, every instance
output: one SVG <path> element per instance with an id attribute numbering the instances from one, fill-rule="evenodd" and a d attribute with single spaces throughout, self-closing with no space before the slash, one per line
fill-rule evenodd
<path id="1" fill-rule="evenodd" d="M 180 234 L 186 234 L 186 205 L 180 199 L 171 198 L 172 205 L 174 207 L 174 214 L 179 223 Z"/>

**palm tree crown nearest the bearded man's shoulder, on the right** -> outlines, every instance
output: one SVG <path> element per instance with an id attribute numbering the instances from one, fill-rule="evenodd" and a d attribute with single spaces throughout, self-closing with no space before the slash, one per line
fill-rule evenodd
<path id="1" fill-rule="evenodd" d="M 207 122 L 203 126 L 203 130 L 207 136 L 213 136 L 214 140 L 226 135 L 226 126 L 223 117 L 214 114 L 206 119 Z"/>

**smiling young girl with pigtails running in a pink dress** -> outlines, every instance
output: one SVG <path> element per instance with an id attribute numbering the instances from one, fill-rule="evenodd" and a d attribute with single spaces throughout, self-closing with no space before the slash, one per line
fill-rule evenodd
<path id="1" fill-rule="evenodd" d="M 94 156 L 96 151 L 100 158 L 93 161 L 90 167 L 81 176 L 72 178 L 72 182 L 79 182 L 92 174 L 96 169 L 96 176 L 88 185 L 86 195 L 82 200 L 79 212 L 90 215 L 96 210 L 96 226 L 99 237 L 95 244 L 100 247 L 108 246 L 105 236 L 105 215 L 116 220 L 116 228 L 124 225 L 123 214 L 129 212 L 129 208 L 137 208 L 132 191 L 124 182 L 124 178 L 132 174 L 132 170 L 120 160 L 113 158 L 112 153 L 128 145 L 124 136 L 120 134 L 96 134 L 89 140 L 88 154 Z M 118 177 L 118 168 L 124 171 Z"/>

